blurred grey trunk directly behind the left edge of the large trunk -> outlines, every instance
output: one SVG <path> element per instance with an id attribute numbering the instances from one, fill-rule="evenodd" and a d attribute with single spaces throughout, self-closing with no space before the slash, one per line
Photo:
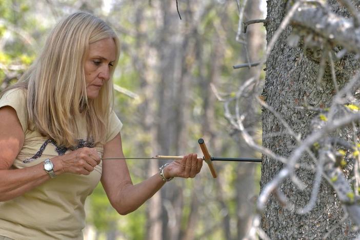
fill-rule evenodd
<path id="1" fill-rule="evenodd" d="M 248 1 L 245 9 L 246 19 L 244 21 L 261 19 L 263 14 L 259 9 L 259 1 L 253 0 Z M 247 51 L 249 54 L 249 61 L 251 63 L 257 62 L 261 59 L 261 54 L 264 51 L 265 45 L 265 34 L 262 30 L 261 24 L 250 25 L 247 28 L 246 32 L 246 42 L 247 42 Z M 246 49 L 244 47 L 244 49 Z M 244 51 L 243 55 L 246 56 Z M 244 57 L 246 61 L 246 58 Z M 244 69 L 245 70 L 245 69 Z M 237 71 L 244 71 L 237 70 Z M 256 74 L 256 68 L 250 68 L 244 75 L 243 79 L 250 78 Z M 252 103 L 250 97 L 246 101 L 247 104 Z M 256 128 L 258 124 L 258 113 L 256 113 L 257 108 L 255 106 L 247 107 L 247 119 L 246 128 Z M 257 121 L 256 121 L 257 120 Z M 239 141 L 239 152 L 242 156 L 246 157 L 256 157 L 254 151 L 248 148 L 248 146 L 243 142 Z M 254 213 L 254 202 L 251 201 L 255 197 L 255 167 L 256 163 L 242 163 L 237 165 L 236 171 L 236 212 L 237 212 L 237 239 L 243 239 L 250 230 L 253 213 Z"/>

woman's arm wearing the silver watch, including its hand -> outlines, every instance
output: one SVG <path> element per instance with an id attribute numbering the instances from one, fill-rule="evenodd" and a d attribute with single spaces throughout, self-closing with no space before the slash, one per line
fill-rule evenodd
<path id="1" fill-rule="evenodd" d="M 24 144 L 24 132 L 12 107 L 0 108 L 0 202 L 30 191 L 50 179 L 43 163 L 23 169 L 11 169 Z M 78 149 L 51 158 L 56 175 L 64 172 L 90 174 L 100 159 L 95 149 Z M 91 166 L 90 166 L 91 165 Z"/>

